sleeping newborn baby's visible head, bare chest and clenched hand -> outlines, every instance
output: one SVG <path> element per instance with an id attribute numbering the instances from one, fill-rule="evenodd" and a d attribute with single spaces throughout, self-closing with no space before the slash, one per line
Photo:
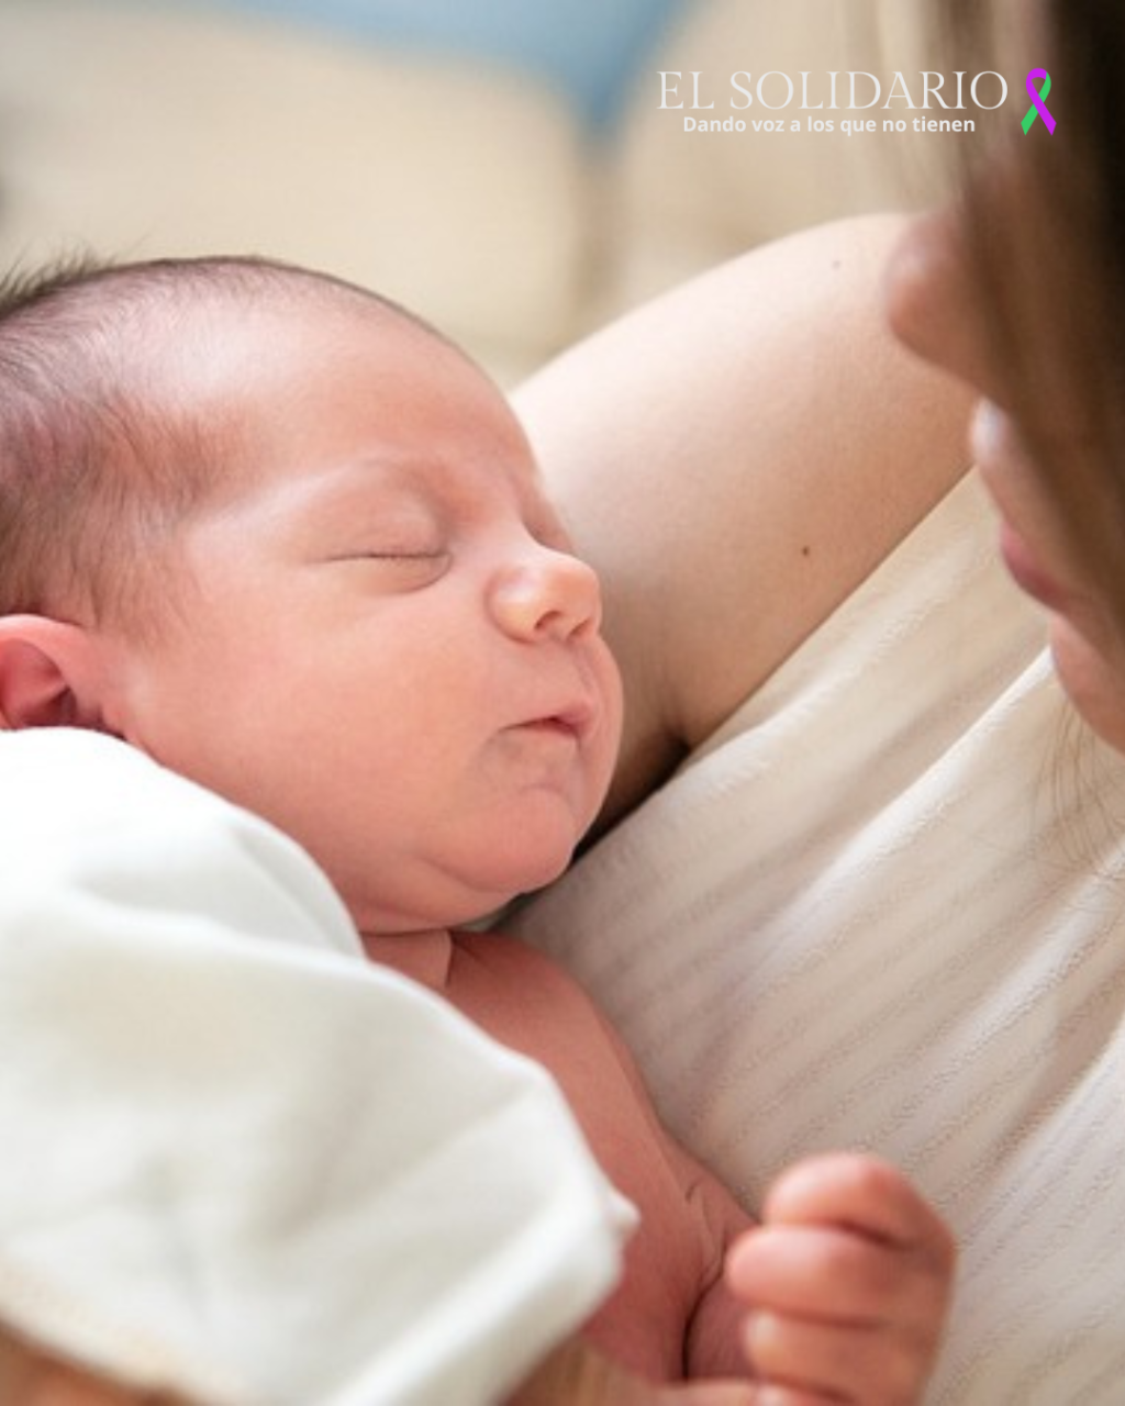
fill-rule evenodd
<path id="1" fill-rule="evenodd" d="M 586 1330 L 612 1362 L 915 1399 L 952 1254 L 903 1178 L 807 1164 L 755 1230 L 579 987 L 460 931 L 562 872 L 622 709 L 495 387 L 371 294 L 233 259 L 48 278 L 0 360 L 4 724 L 110 733 L 274 823 L 373 960 L 551 1070 L 640 1212 Z"/>

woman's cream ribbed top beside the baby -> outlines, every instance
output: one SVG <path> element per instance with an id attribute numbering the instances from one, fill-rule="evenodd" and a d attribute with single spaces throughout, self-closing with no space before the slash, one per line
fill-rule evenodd
<path id="1" fill-rule="evenodd" d="M 751 1206 L 817 1149 L 918 1178 L 963 1256 L 934 1402 L 1117 1406 L 1125 763 L 993 538 L 969 481 L 513 927 Z"/>

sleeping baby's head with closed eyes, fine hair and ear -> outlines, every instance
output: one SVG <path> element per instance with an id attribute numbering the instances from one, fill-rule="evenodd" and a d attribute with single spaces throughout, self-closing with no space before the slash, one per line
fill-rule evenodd
<path id="1" fill-rule="evenodd" d="M 551 879 L 620 699 L 503 396 L 382 299 L 248 260 L 0 312 L 0 714 L 77 724 L 304 844 L 360 927 Z"/>

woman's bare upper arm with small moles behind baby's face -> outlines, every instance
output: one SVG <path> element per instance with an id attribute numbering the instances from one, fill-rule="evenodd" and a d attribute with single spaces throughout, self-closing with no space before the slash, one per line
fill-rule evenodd
<path id="1" fill-rule="evenodd" d="M 516 396 L 599 572 L 626 730 L 602 828 L 714 731 L 968 468 L 970 398 L 886 326 L 879 215 L 754 250 Z"/>

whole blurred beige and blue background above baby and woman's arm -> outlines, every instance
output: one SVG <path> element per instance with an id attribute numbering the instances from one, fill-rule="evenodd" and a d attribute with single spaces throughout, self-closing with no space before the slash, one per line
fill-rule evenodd
<path id="1" fill-rule="evenodd" d="M 683 131 L 660 70 L 918 59 L 911 0 L 0 0 L 0 266 L 266 253 L 505 384 L 719 259 L 917 200 L 927 138 Z M 797 100 L 799 101 L 799 100 Z M 901 107 L 901 104 L 899 104 Z M 879 110 L 873 110 L 879 111 Z M 879 115 L 886 115 L 879 111 Z M 917 184 L 917 183 L 915 183 Z"/>

